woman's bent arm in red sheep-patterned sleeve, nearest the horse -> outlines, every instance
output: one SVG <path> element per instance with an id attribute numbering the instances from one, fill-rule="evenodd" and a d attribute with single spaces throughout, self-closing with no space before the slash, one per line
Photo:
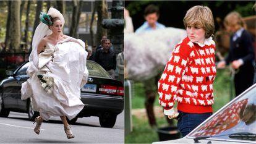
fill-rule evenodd
<path id="1" fill-rule="evenodd" d="M 167 116 L 175 114 L 173 106 L 176 92 L 192 53 L 192 48 L 187 48 L 188 45 L 187 41 L 177 44 L 158 81 L 159 104 L 164 107 L 164 114 Z"/>

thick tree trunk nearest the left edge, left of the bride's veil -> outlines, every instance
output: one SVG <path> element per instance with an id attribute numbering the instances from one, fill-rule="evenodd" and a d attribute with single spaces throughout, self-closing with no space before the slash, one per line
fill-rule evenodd
<path id="1" fill-rule="evenodd" d="M 10 1 L 9 25 L 7 25 L 6 48 L 20 49 L 20 1 Z"/>

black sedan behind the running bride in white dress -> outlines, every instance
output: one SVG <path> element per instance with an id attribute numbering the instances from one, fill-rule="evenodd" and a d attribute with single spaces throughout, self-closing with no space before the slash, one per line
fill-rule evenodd
<path id="1" fill-rule="evenodd" d="M 14 72 L 7 70 L 7 75 L 0 82 L 0 116 L 8 117 L 10 111 L 27 112 L 28 119 L 34 121 L 39 115 L 33 111 L 30 99 L 21 100 L 21 84 L 28 79 L 26 70 L 30 66 L 25 62 Z M 81 100 L 85 104 L 78 117 L 98 116 L 101 127 L 113 127 L 116 117 L 124 110 L 124 87 L 122 82 L 114 80 L 103 67 L 94 61 L 87 61 L 88 82 L 81 89 Z"/>

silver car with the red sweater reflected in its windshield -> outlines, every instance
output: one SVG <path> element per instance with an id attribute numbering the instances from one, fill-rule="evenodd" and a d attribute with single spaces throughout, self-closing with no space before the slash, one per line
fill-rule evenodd
<path id="1" fill-rule="evenodd" d="M 256 143 L 256 84 L 215 112 L 186 137 L 155 143 Z"/>

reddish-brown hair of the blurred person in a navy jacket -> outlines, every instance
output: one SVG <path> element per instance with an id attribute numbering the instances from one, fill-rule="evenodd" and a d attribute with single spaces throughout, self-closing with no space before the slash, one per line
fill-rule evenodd
<path id="1" fill-rule="evenodd" d="M 238 12 L 230 12 L 226 17 L 224 18 L 224 25 L 228 26 L 241 26 L 246 28 L 246 25 L 244 23 L 244 20 L 242 19 L 242 16 Z"/>

